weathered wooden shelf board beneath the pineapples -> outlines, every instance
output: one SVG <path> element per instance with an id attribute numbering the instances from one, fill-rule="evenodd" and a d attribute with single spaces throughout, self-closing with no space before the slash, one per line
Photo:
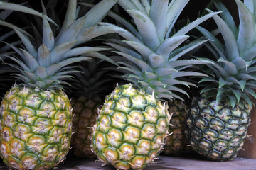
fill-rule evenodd
<path id="1" fill-rule="evenodd" d="M 67 157 L 59 164 L 58 170 L 115 170 L 114 166 L 101 166 L 102 162 L 96 159 L 78 159 Z M 7 169 L 3 163 L 0 169 Z M 157 162 L 149 164 L 145 170 L 255 170 L 256 160 L 235 158 L 228 162 L 210 162 L 200 158 L 165 157 L 160 156 Z"/>

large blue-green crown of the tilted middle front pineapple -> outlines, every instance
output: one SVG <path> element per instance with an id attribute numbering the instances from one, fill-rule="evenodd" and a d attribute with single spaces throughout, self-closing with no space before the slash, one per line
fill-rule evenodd
<path id="1" fill-rule="evenodd" d="M 158 98 L 183 100 L 178 94 L 188 94 L 178 86 L 196 86 L 185 77 L 206 77 L 206 74 L 191 72 L 188 68 L 210 62 L 200 59 L 181 60 L 181 57 L 207 40 L 195 40 L 181 45 L 188 39 L 188 31 L 219 12 L 202 16 L 176 32 L 174 23 L 187 3 L 188 0 L 173 0 L 170 3 L 166 0 L 119 0 L 119 6 L 132 17 L 133 23 L 112 11 L 108 15 L 122 26 L 100 23 L 122 37 L 108 40 L 107 45 L 117 50 L 114 52 L 122 65 L 119 69 L 126 73 L 124 79 L 148 94 L 154 92 Z"/>

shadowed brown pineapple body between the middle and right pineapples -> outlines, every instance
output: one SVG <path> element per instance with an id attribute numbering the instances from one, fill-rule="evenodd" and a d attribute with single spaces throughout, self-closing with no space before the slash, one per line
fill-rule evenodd
<path id="1" fill-rule="evenodd" d="M 169 125 L 171 135 L 164 139 L 165 145 L 163 154 L 181 156 L 191 152 L 184 134 L 188 106 L 185 102 L 174 100 L 169 103 L 169 113 L 172 115 Z"/>

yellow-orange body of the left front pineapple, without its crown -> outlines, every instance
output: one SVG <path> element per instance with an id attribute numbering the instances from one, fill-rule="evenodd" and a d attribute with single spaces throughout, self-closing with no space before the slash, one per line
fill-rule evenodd
<path id="1" fill-rule="evenodd" d="M 72 108 L 62 91 L 14 86 L 0 107 L 1 158 L 10 169 L 51 169 L 70 149 Z"/>

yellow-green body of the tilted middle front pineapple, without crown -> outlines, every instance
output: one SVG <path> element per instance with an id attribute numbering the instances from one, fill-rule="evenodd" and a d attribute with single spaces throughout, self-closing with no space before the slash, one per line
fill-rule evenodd
<path id="1" fill-rule="evenodd" d="M 93 152 L 117 169 L 144 169 L 163 149 L 171 119 L 167 108 L 132 84 L 117 86 L 93 128 Z"/>

